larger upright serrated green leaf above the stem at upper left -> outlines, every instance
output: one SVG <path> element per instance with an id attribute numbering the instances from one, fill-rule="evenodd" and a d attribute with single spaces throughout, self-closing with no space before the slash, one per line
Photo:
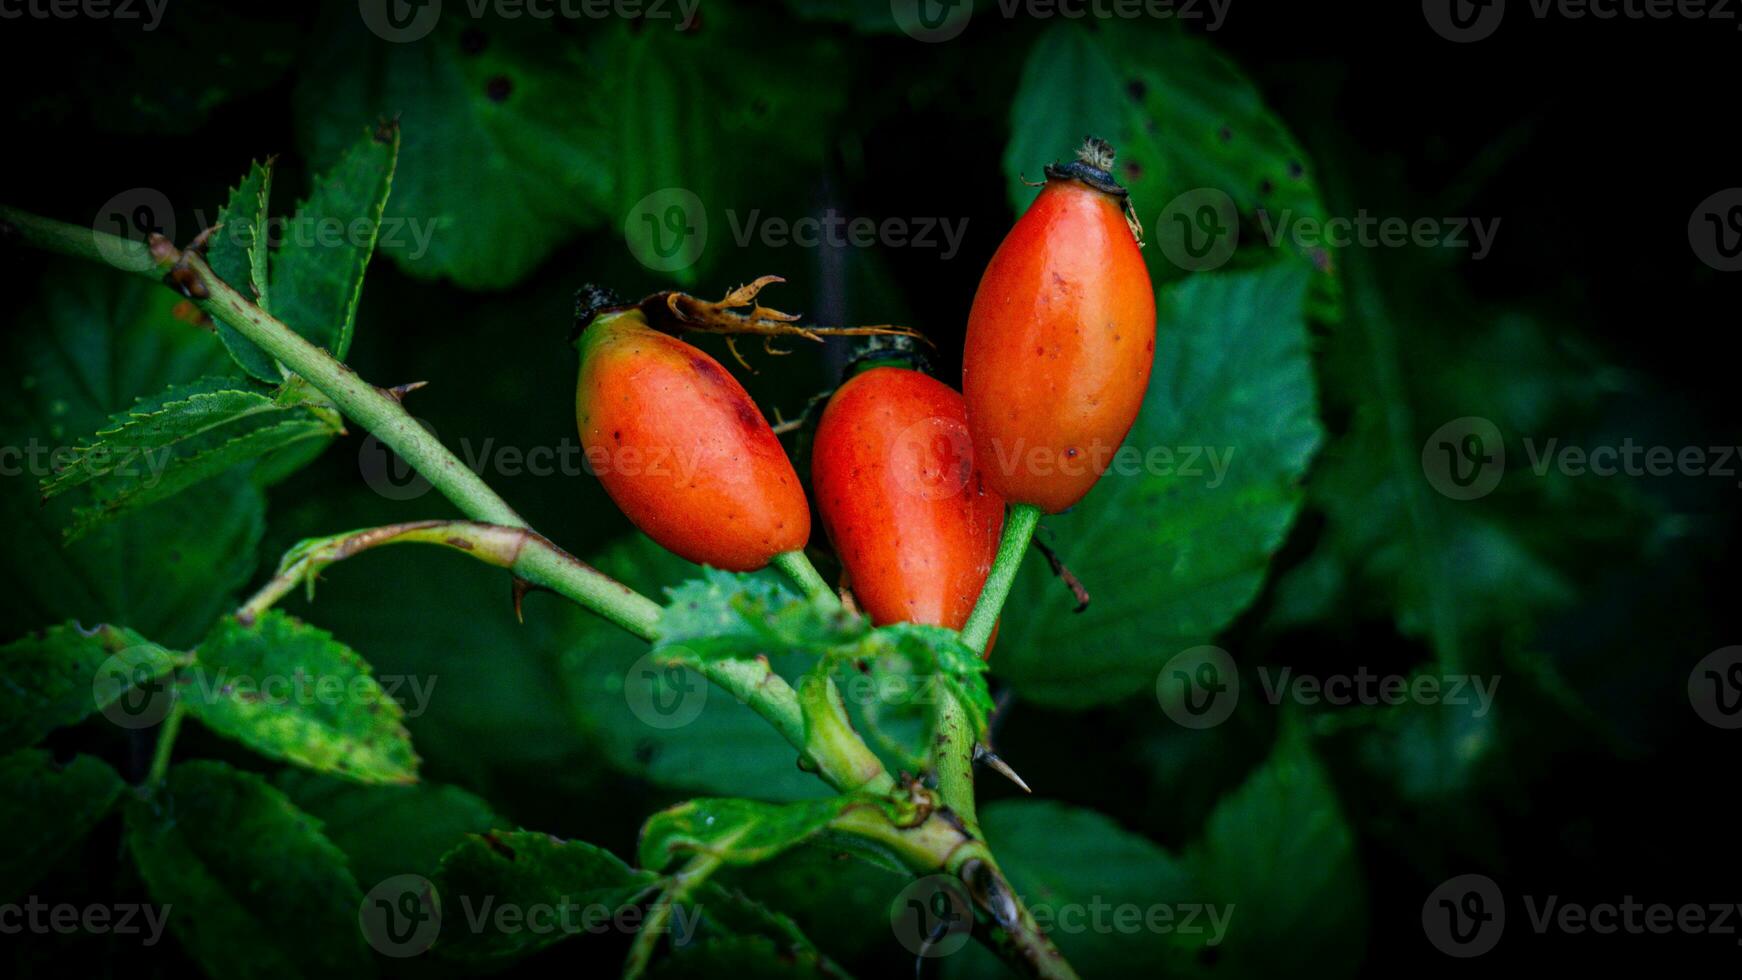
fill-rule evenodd
<path id="1" fill-rule="evenodd" d="M 315 178 L 272 258 L 272 315 L 345 360 L 362 275 L 381 233 L 399 162 L 399 125 L 385 124 Z"/>

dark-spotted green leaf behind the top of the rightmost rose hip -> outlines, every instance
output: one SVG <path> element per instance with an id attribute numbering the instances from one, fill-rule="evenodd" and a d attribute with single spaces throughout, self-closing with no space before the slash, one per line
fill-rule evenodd
<path id="1" fill-rule="evenodd" d="M 1017 214 L 1028 209 L 1052 162 L 1070 160 L 1084 136 L 1113 143 L 1113 176 L 1131 191 L 1146 228 L 1150 275 L 1157 282 L 1186 272 L 1277 261 L 1268 228 L 1284 221 L 1322 221 L 1324 200 L 1306 155 L 1258 87 L 1216 47 L 1178 30 L 1090 30 L 1059 21 L 1047 28 L 1023 66 L 1010 104 L 1010 143 L 1003 171 Z M 1181 195 L 1188 195 L 1181 198 Z M 1226 195 L 1232 216 L 1218 216 L 1239 251 L 1204 251 L 1198 205 Z M 1221 200 L 1216 197 L 1214 200 Z M 1181 223 L 1190 228 L 1183 228 Z M 1204 258 L 1183 252 L 1183 235 Z M 1221 242 L 1223 238 L 1214 238 Z M 1287 247 L 1324 272 L 1333 258 L 1320 247 Z M 1186 265 L 1174 261 L 1181 258 Z M 1218 261 L 1219 259 L 1219 261 Z M 1338 287 L 1313 277 L 1315 312 L 1336 317 Z"/>

